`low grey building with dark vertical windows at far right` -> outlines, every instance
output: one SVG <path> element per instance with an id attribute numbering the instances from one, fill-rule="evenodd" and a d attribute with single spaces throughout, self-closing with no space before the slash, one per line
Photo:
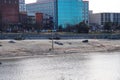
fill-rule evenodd
<path id="1" fill-rule="evenodd" d="M 90 12 L 90 24 L 104 25 L 106 22 L 112 22 L 120 25 L 120 13 L 92 13 Z"/>

